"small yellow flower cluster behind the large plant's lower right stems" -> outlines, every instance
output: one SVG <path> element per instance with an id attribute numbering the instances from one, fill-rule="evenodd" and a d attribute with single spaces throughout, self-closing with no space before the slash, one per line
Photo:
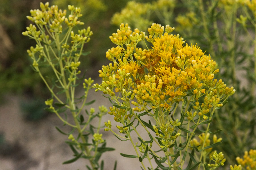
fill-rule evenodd
<path id="1" fill-rule="evenodd" d="M 190 147 L 191 147 L 191 148 L 197 147 L 198 150 L 201 150 L 204 140 L 205 140 L 204 148 L 205 148 L 206 146 L 211 145 L 211 144 L 210 144 L 210 143 L 211 143 L 211 140 L 209 139 L 210 133 L 207 133 L 206 136 L 205 136 L 205 133 L 202 133 L 202 135 L 199 135 L 198 137 L 199 137 L 200 141 L 198 141 L 198 140 L 195 139 L 195 138 L 193 138 L 193 139 L 190 141 Z M 206 137 L 206 139 L 205 139 L 205 137 Z M 213 143 L 212 143 L 212 144 L 217 143 L 217 142 L 220 142 L 220 141 L 222 141 L 222 138 L 217 138 L 216 135 L 213 135 L 213 138 L 212 138 L 212 142 L 213 142 Z M 212 151 L 212 148 L 207 148 L 207 149 L 205 149 L 205 151 L 206 151 L 206 152 L 211 152 L 211 151 Z"/>

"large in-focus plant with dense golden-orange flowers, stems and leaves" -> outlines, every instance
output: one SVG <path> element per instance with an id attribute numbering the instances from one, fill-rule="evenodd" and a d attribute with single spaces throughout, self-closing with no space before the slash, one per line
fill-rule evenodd
<path id="1" fill-rule="evenodd" d="M 143 169 L 147 169 L 144 158 L 150 169 L 200 169 L 201 165 L 214 169 L 225 159 L 222 152 L 211 153 L 221 139 L 214 135 L 210 141 L 209 136 L 214 133 L 209 129 L 210 122 L 216 109 L 235 90 L 214 78 L 219 69 L 210 56 L 196 44 L 184 44 L 178 34 L 170 34 L 173 30 L 169 25 L 164 28 L 153 23 L 147 36 L 121 24 L 117 33 L 110 36 L 116 46 L 106 52 L 106 58 L 112 62 L 99 71 L 102 83 L 94 87 L 107 94 L 105 97 L 113 105 L 108 113 L 119 123 L 116 128 L 121 134 L 112 130 L 110 120 L 105 122 L 105 131 L 112 131 L 120 140 L 129 140 L 136 154 L 121 155 L 139 158 Z M 139 48 L 139 42 L 146 47 Z M 152 122 L 145 121 L 146 116 Z M 144 128 L 147 139 L 141 137 L 137 126 Z M 135 131 L 137 141 L 131 131 Z M 152 145 L 158 145 L 164 156 Z"/>

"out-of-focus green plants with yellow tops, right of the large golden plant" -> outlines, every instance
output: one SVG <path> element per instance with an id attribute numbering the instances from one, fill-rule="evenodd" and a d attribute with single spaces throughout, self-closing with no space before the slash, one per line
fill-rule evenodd
<path id="1" fill-rule="evenodd" d="M 140 6 L 146 8 L 160 2 L 152 1 L 149 5 Z M 167 10 L 158 6 L 154 8 L 154 12 L 159 8 L 158 15 L 140 16 L 164 25 L 177 25 L 177 33 L 187 37 L 189 44 L 200 44 L 201 49 L 218 63 L 216 67 L 221 68 L 221 71 L 216 76 L 236 89 L 236 94 L 229 98 L 232 102 L 216 110 L 216 119 L 211 124 L 215 130 L 222 129 L 220 135 L 223 145 L 218 148 L 232 165 L 236 156 L 255 148 L 255 4 L 255 0 L 181 0 L 164 6 L 169 11 L 175 11 L 171 12 L 171 16 L 167 17 Z M 129 11 L 129 8 L 127 6 L 123 10 Z M 126 18 L 119 22 L 136 21 L 135 18 Z M 141 19 L 138 19 L 137 23 L 140 22 Z"/>

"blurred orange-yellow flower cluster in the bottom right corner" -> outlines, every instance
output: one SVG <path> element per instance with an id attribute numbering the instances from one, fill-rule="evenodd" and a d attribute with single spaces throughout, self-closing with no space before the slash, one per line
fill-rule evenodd
<path id="1" fill-rule="evenodd" d="M 245 151 L 243 158 L 237 157 L 236 161 L 247 170 L 256 169 L 256 150 Z"/>

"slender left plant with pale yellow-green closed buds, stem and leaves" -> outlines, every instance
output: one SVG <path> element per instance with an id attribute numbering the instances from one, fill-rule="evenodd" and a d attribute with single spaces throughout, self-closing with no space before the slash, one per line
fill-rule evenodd
<path id="1" fill-rule="evenodd" d="M 95 113 L 94 108 L 89 111 L 84 107 L 94 103 L 95 100 L 86 102 L 88 91 L 93 88 L 94 80 L 83 79 L 78 75 L 80 57 L 89 52 L 84 52 L 84 44 L 90 41 L 92 31 L 90 27 L 73 31 L 74 27 L 84 25 L 79 20 L 82 16 L 81 9 L 72 5 L 67 10 L 61 10 L 57 5 L 49 6 L 49 3 L 40 3 L 41 9 L 30 10 L 31 16 L 27 18 L 33 22 L 22 34 L 36 41 L 36 46 L 27 50 L 33 61 L 32 67 L 42 78 L 49 91 L 51 98 L 45 101 L 49 106 L 48 111 L 55 113 L 63 122 L 63 125 L 70 126 L 70 132 L 63 132 L 67 135 L 66 143 L 74 152 L 71 160 L 63 163 L 71 163 L 79 158 L 89 160 L 86 165 L 88 169 L 103 169 L 104 162 L 100 162 L 103 152 L 114 150 L 106 147 L 106 141 L 102 139 L 100 122 L 107 109 L 99 107 Z M 44 68 L 51 69 L 53 75 L 44 75 Z M 75 90 L 83 82 L 84 94 L 77 96 Z M 72 121 L 67 117 L 71 115 Z M 90 122 L 98 117 L 98 125 L 93 126 Z M 90 142 L 90 140 L 92 140 Z"/>

